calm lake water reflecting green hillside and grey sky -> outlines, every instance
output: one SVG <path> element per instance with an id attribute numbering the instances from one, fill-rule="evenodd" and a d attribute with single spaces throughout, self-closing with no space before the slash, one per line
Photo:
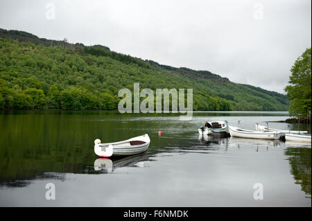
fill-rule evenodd
<path id="1" fill-rule="evenodd" d="M 198 134 L 204 121 L 287 130 L 287 112 L 0 112 L 0 206 L 311 206 L 311 145 Z M 297 125 L 292 125 L 297 130 Z M 310 126 L 300 125 L 301 130 Z M 157 132 L 162 131 L 162 136 Z M 102 143 L 146 134 L 148 151 L 98 159 Z M 101 166 L 99 168 L 98 166 Z M 55 200 L 46 200 L 46 184 Z M 263 200 L 254 200 L 254 184 Z"/>

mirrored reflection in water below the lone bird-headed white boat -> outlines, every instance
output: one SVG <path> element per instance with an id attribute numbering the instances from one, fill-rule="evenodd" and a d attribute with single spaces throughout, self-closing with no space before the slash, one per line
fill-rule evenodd
<path id="1" fill-rule="evenodd" d="M 146 161 L 150 161 L 146 152 L 128 157 L 98 158 L 94 161 L 94 170 L 101 171 L 101 173 L 112 173 L 114 169 L 125 166 L 147 167 Z"/>

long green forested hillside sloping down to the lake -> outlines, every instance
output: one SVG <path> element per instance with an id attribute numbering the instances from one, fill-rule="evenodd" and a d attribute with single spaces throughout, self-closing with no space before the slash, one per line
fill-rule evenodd
<path id="1" fill-rule="evenodd" d="M 286 96 L 110 51 L 0 29 L 0 109 L 117 109 L 118 91 L 193 88 L 194 110 L 288 110 Z M 142 98 L 144 99 L 144 98 Z"/>

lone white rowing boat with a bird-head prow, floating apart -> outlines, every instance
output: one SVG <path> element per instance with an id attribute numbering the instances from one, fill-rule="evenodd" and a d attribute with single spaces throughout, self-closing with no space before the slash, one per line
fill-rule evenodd
<path id="1" fill-rule="evenodd" d="M 94 144 L 94 152 L 99 157 L 126 156 L 145 152 L 150 145 L 150 137 L 144 134 L 114 143 L 101 143 L 100 139 L 96 139 Z"/>

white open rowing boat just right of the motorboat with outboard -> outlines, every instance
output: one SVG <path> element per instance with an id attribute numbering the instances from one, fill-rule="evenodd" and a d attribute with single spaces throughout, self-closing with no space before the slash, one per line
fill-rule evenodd
<path id="1" fill-rule="evenodd" d="M 233 126 L 229 126 L 229 134 L 231 134 L 231 136 L 242 138 L 270 139 L 270 140 L 279 139 L 279 136 L 281 136 L 280 132 L 261 132 L 254 130 L 245 130 Z"/>

